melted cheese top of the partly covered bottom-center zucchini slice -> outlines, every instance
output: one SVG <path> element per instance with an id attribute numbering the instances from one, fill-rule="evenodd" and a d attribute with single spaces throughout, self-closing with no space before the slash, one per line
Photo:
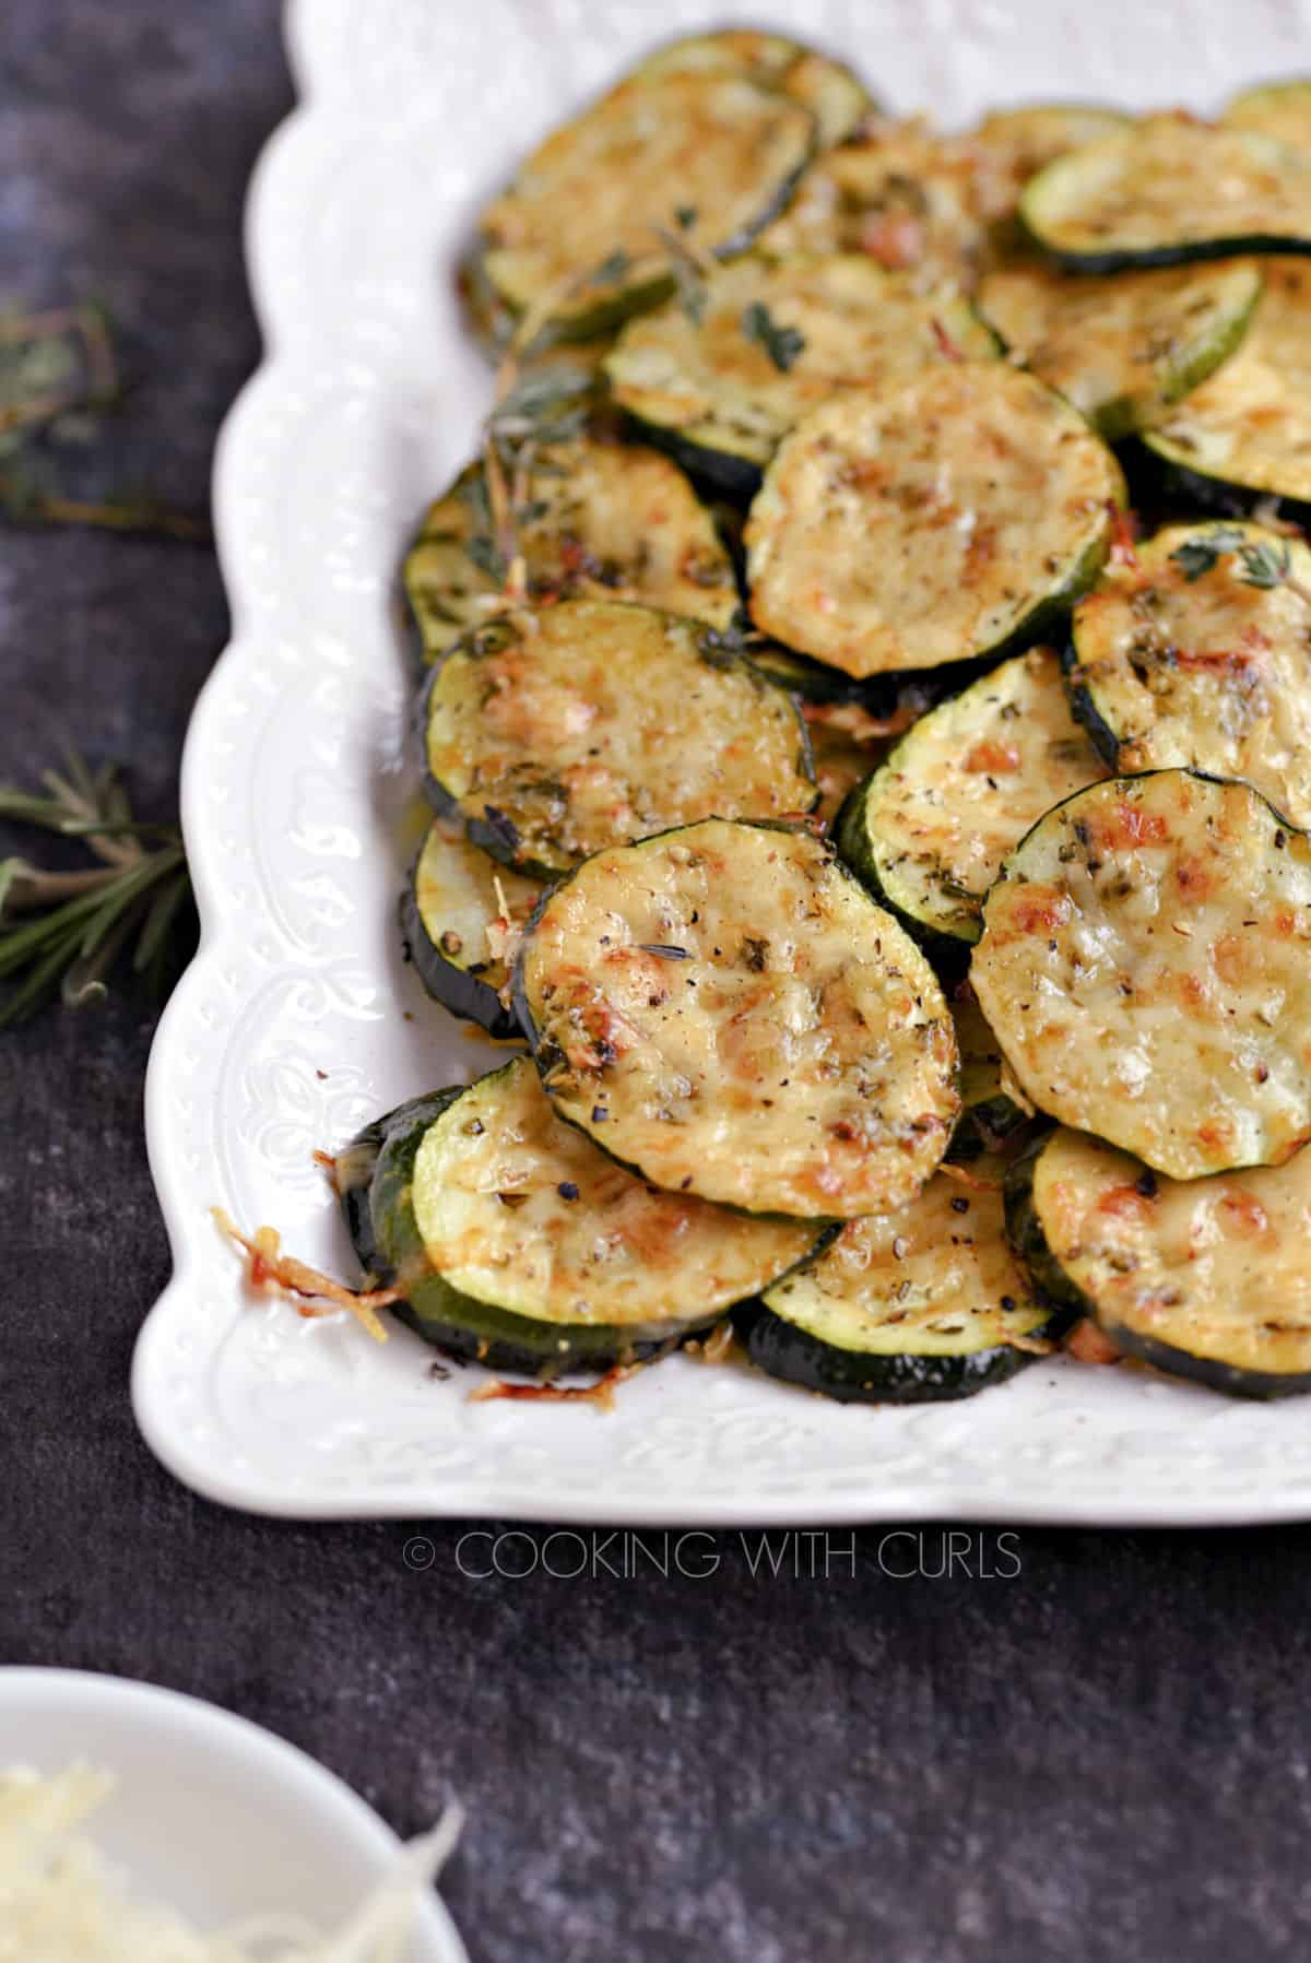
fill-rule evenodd
<path id="1" fill-rule="evenodd" d="M 983 1178 L 999 1172 L 981 1166 Z M 765 1307 L 869 1356 L 970 1356 L 1052 1317 L 1007 1247 L 1001 1186 L 966 1192 L 946 1174 L 897 1213 L 852 1221 L 818 1260 L 777 1282 Z"/>

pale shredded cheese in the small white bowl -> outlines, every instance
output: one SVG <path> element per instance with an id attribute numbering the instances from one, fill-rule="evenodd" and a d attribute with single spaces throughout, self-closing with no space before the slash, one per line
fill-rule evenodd
<path id="1" fill-rule="evenodd" d="M 112 1790 L 112 1775 L 90 1765 L 49 1778 L 0 1773 L 0 1963 L 400 1963 L 414 1908 L 463 1826 L 447 1806 L 336 1936 L 283 1914 L 202 1936 L 133 1894 L 77 1831 Z"/>

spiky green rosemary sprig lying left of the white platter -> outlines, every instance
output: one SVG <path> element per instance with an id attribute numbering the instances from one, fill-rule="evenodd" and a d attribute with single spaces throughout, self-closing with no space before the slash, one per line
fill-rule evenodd
<path id="1" fill-rule="evenodd" d="M 102 1001 L 120 954 L 163 993 L 175 928 L 190 897 L 177 826 L 131 815 L 118 771 L 77 754 L 41 775 L 43 791 L 0 787 L 0 819 L 80 838 L 98 866 L 51 872 L 26 858 L 0 860 L 0 1029 L 59 995 L 71 1007 Z M 31 919 L 26 919 L 31 915 Z"/>

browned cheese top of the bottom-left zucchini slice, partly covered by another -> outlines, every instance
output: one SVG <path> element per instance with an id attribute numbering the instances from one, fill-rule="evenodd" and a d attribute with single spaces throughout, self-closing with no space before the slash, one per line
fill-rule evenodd
<path id="1" fill-rule="evenodd" d="M 548 1323 L 705 1323 L 814 1245 L 805 1223 L 726 1213 L 616 1166 L 555 1115 L 526 1056 L 428 1127 L 412 1205 L 451 1288 Z"/>

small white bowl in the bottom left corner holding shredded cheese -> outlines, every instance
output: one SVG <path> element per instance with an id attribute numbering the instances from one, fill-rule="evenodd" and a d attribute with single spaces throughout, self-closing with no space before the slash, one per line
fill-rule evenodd
<path id="1" fill-rule="evenodd" d="M 204 1932 L 263 1910 L 328 1932 L 400 1845 L 343 1780 L 245 1718 L 122 1676 L 0 1669 L 0 1767 L 77 1759 L 118 1782 L 88 1837 Z M 467 1963 L 436 1894 L 414 1916 L 408 1963 Z"/>

